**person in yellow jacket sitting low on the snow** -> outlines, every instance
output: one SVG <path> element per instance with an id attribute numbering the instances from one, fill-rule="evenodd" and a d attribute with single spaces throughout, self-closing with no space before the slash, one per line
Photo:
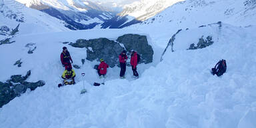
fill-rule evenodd
<path id="1" fill-rule="evenodd" d="M 74 69 L 71 69 L 71 67 L 68 67 L 67 70 L 65 70 L 62 74 L 62 79 L 64 79 L 64 84 L 65 85 L 71 85 L 75 84 L 75 71 Z M 72 79 L 71 82 L 68 82 L 67 79 Z"/>

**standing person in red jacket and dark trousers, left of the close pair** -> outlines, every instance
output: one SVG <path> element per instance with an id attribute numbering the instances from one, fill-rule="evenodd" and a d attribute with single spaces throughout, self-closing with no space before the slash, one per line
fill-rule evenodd
<path id="1" fill-rule="evenodd" d="M 126 61 L 127 61 L 126 51 L 123 50 L 122 53 L 119 55 L 119 63 L 121 67 L 121 71 L 120 71 L 121 79 L 125 79 Z"/>

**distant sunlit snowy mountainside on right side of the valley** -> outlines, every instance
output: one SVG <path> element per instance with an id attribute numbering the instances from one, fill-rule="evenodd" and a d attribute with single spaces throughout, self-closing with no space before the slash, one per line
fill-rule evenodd
<path id="1" fill-rule="evenodd" d="M 124 5 L 123 11 L 109 21 L 103 23 L 103 28 L 123 28 L 141 23 L 157 15 L 167 7 L 183 0 L 141 0 Z"/>

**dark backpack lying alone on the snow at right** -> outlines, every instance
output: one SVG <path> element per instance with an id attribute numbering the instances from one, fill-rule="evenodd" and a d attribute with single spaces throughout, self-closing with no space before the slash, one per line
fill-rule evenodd
<path id="1" fill-rule="evenodd" d="M 221 59 L 214 68 L 211 69 L 211 73 L 213 75 L 217 75 L 218 77 L 223 75 L 227 70 L 227 63 L 225 59 Z"/>

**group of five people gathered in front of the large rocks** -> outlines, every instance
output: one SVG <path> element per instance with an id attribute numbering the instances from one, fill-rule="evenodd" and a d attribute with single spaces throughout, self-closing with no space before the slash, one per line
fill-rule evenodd
<path id="1" fill-rule="evenodd" d="M 119 55 L 119 63 L 121 67 L 120 71 L 120 78 L 125 79 L 125 71 L 126 71 L 126 62 L 127 62 L 127 51 L 123 50 L 121 54 Z M 138 55 L 137 52 L 134 50 L 131 50 L 131 69 L 133 71 L 133 76 L 135 78 L 139 78 L 139 74 L 137 72 L 137 64 L 138 64 Z M 109 65 L 105 63 L 104 59 L 99 59 L 100 64 L 97 68 L 97 73 L 99 74 L 99 77 L 105 77 L 107 74 L 107 68 L 109 68 Z M 71 58 L 71 55 L 69 54 L 69 51 L 67 51 L 67 47 L 63 47 L 63 51 L 61 53 L 61 63 L 63 67 L 65 67 L 65 71 L 61 75 L 61 78 L 63 79 L 63 83 L 65 85 L 71 85 L 75 84 L 75 71 L 72 69 L 71 63 L 73 63 L 73 60 Z M 71 81 L 67 81 L 68 79 L 71 79 Z"/>

